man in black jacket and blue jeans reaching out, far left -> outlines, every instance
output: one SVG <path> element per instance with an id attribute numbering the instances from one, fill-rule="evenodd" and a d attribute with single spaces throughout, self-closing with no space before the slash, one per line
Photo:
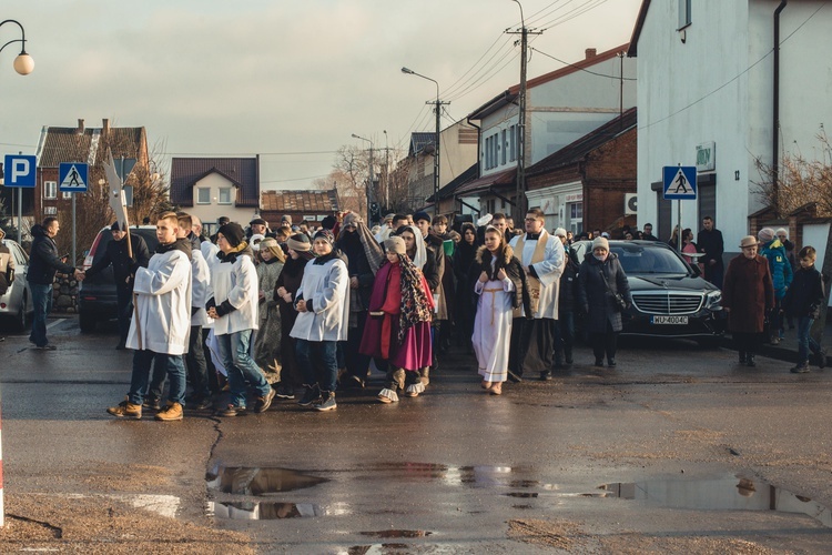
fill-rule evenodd
<path id="1" fill-rule="evenodd" d="M 54 351 L 54 345 L 47 339 L 47 315 L 52 310 L 52 282 L 54 274 L 62 272 L 70 274 L 75 280 L 82 281 L 83 272 L 67 264 L 67 256 L 58 255 L 58 245 L 54 236 L 61 229 L 58 219 L 50 215 L 43 220 L 43 224 L 32 228 L 32 250 L 29 255 L 29 273 L 26 280 L 32 291 L 32 304 L 34 304 L 34 320 L 32 321 L 32 333 L 29 341 L 37 349 Z"/>

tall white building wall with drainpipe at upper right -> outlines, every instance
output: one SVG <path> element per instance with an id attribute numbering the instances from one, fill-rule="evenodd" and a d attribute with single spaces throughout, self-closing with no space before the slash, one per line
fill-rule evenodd
<path id="1" fill-rule="evenodd" d="M 749 214 L 762 208 L 755 161 L 771 164 L 783 152 L 812 158 L 819 131 L 832 123 L 826 3 L 642 1 L 628 52 L 639 60 L 639 226 L 650 222 L 669 238 L 677 203 L 662 199 L 661 169 L 697 165 L 699 196 L 681 201 L 682 228 L 698 230 L 711 215 L 726 249 L 738 250 Z"/>

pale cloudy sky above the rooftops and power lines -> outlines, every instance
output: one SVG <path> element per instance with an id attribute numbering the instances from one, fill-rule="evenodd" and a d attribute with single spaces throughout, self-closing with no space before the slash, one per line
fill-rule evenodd
<path id="1" fill-rule="evenodd" d="M 630 40 L 641 0 L 521 0 L 528 77 Z M 0 53 L 0 153 L 34 154 L 43 125 L 144 127 L 172 157 L 261 155 L 261 188 L 310 189 L 342 145 L 406 151 L 519 82 L 513 0 L 3 0 L 34 72 Z M 20 38 L 0 28 L 0 44 Z M 548 56 L 544 56 L 548 54 Z M 386 133 L 385 133 L 386 131 Z"/>

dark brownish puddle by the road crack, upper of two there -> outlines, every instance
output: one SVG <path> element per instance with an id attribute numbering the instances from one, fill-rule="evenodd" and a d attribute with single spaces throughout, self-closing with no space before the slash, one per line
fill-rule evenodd
<path id="1" fill-rule="evenodd" d="M 264 495 L 293 492 L 327 482 L 326 478 L 303 474 L 291 468 L 257 468 L 246 466 L 217 466 L 205 477 L 207 486 L 237 495 Z"/>

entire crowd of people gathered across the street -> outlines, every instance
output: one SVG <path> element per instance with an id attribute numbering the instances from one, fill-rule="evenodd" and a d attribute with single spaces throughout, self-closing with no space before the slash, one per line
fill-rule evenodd
<path id="1" fill-rule="evenodd" d="M 632 299 L 608 233 L 549 233 L 538 209 L 528 211 L 521 231 L 501 213 L 453 229 L 445 216 L 424 212 L 389 214 L 372 230 L 352 212 L 322 223 L 310 229 L 284 219 L 273 231 L 255 218 L 246 230 L 220 219 L 205 238 L 199 219 L 166 212 L 151 256 L 116 222 L 105 255 L 82 272 L 58 258 L 59 225 L 48 218 L 33 230 L 28 279 L 47 289 L 55 271 L 81 281 L 113 266 L 116 347 L 133 351 L 130 390 L 108 408 L 120 417 L 141 418 L 153 408 L 156 420 L 181 420 L 185 406 L 214 407 L 223 390 L 230 401 L 216 414 L 225 417 L 246 413 L 250 400 L 262 413 L 274 398 L 296 395 L 301 406 L 331 411 L 336 390 L 367 386 L 371 365 L 385 375 L 378 402 L 396 403 L 427 391 L 451 345 L 476 356 L 483 389 L 500 395 L 507 382 L 551 380 L 552 370 L 574 363 L 578 314 L 595 365 L 618 365 L 621 313 Z M 795 258 L 785 230 L 765 228 L 741 240 L 742 254 L 723 283 L 722 235 L 711 218 L 702 224 L 698 244 L 687 229 L 669 242 L 722 289 L 740 363 L 753 366 L 761 336 L 777 341 L 794 319 L 800 361 L 792 371 L 809 370 L 810 352 L 823 364 L 809 337 L 824 299 L 814 249 Z M 617 231 L 625 240 L 658 241 L 649 223 L 642 232 Z M 571 246 L 580 239 L 591 240 L 584 260 Z M 51 295 L 34 293 L 44 310 L 35 313 L 30 340 L 48 350 Z"/>

